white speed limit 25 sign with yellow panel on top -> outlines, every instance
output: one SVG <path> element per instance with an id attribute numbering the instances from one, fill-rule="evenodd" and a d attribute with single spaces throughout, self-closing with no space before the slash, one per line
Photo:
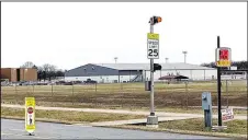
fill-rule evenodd
<path id="1" fill-rule="evenodd" d="M 147 34 L 147 58 L 159 59 L 159 34 Z"/>

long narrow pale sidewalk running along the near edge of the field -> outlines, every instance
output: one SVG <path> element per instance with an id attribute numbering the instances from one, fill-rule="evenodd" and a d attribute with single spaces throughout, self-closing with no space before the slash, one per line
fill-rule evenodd
<path id="1" fill-rule="evenodd" d="M 24 108 L 23 105 L 11 105 L 11 104 L 1 104 L 2 107 L 13 107 L 13 108 Z M 43 110 L 74 110 L 74 112 L 86 112 L 86 113 L 110 113 L 110 114 L 129 114 L 129 115 L 149 115 L 149 112 L 140 110 L 123 110 L 123 109 L 95 109 L 95 108 L 67 108 L 67 107 L 44 107 L 35 106 L 35 109 Z M 182 113 L 165 113 L 156 112 L 158 117 L 191 117 L 191 118 L 202 118 L 203 114 L 182 114 Z M 217 115 L 213 115 L 213 118 L 217 118 Z M 234 119 L 247 119 L 247 116 L 235 115 Z"/>

